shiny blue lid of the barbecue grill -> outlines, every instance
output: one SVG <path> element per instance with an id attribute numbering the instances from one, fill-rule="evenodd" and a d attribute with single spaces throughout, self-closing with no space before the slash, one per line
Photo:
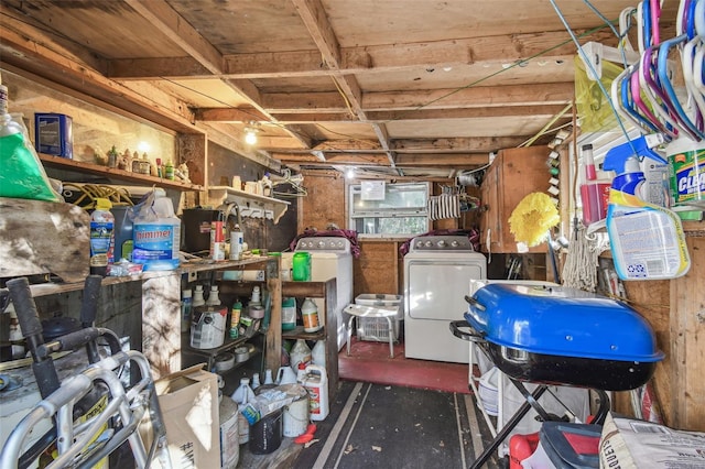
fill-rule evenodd
<path id="1" fill-rule="evenodd" d="M 600 360 L 663 359 L 649 324 L 605 296 L 562 286 L 488 284 L 465 319 L 489 342 L 531 353 Z"/>

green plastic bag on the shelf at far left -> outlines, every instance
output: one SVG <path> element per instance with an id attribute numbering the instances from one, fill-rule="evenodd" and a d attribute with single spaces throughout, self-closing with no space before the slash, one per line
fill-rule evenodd
<path id="1" fill-rule="evenodd" d="M 0 124 L 0 197 L 64 201 L 32 146 L 22 114 L 6 114 Z"/>

